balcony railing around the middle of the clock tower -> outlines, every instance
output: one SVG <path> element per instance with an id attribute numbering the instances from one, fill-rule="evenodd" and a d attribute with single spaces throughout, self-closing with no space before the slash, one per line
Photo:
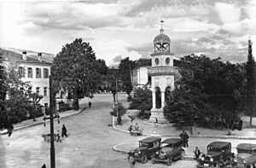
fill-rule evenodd
<path id="1" fill-rule="evenodd" d="M 149 67 L 148 75 L 155 74 L 176 74 L 178 72 L 177 67 Z"/>

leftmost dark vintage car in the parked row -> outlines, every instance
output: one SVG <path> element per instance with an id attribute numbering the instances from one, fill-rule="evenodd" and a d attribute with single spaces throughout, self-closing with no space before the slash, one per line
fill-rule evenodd
<path id="1" fill-rule="evenodd" d="M 139 141 L 139 147 L 128 153 L 128 159 L 132 156 L 135 160 L 142 161 L 143 164 L 152 158 L 156 151 L 160 150 L 161 138 L 149 136 Z"/>

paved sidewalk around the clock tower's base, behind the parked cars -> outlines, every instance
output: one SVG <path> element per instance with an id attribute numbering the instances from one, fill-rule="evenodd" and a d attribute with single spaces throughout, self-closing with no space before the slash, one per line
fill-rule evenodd
<path id="1" fill-rule="evenodd" d="M 136 123 L 143 129 L 143 135 L 155 135 L 155 136 L 178 136 L 183 130 L 174 126 L 174 124 L 160 125 L 149 123 L 148 119 L 135 119 L 131 122 L 129 115 L 136 115 L 133 111 L 128 111 L 122 117 L 123 125 L 116 125 L 116 130 L 121 130 L 128 133 L 130 125 Z M 231 130 L 231 135 L 227 136 L 228 130 L 209 130 L 202 127 L 195 127 L 193 134 L 191 135 L 189 130 L 189 137 L 209 137 L 209 138 L 223 138 L 223 139 L 247 139 L 256 140 L 256 129 L 243 128 L 240 130 Z"/>

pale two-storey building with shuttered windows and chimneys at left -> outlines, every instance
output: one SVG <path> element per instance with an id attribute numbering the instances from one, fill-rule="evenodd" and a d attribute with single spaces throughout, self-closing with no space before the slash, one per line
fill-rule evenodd
<path id="1" fill-rule="evenodd" d="M 49 75 L 51 62 L 42 60 L 42 53 L 38 53 L 38 59 L 30 55 L 26 55 L 23 51 L 22 55 L 13 51 L 1 49 L 1 57 L 3 67 L 9 67 L 11 64 L 16 64 L 21 74 L 21 80 L 27 82 L 34 93 L 43 96 L 39 103 L 43 106 L 49 106 Z"/>

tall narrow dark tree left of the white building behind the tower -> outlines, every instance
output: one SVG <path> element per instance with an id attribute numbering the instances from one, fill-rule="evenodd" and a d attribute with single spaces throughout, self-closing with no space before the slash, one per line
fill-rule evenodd
<path id="1" fill-rule="evenodd" d="M 123 88 L 128 96 L 132 90 L 131 70 L 135 67 L 135 61 L 130 61 L 129 57 L 121 60 L 119 63 L 119 72 L 123 82 Z"/>

